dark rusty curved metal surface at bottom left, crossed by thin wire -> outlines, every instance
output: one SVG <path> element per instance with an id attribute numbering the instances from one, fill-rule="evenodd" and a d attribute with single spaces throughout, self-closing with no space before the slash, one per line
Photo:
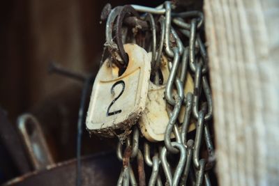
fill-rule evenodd
<path id="1" fill-rule="evenodd" d="M 116 185 L 119 161 L 112 153 L 102 153 L 82 159 L 82 185 Z M 10 180 L 3 186 L 56 186 L 75 185 L 76 160 L 47 166 L 41 171 L 33 171 L 24 176 Z"/>

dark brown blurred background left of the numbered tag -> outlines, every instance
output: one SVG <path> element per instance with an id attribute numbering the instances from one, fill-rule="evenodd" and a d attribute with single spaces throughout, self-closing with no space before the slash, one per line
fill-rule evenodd
<path id="1" fill-rule="evenodd" d="M 0 107 L 13 127 L 20 114 L 38 118 L 54 162 L 75 157 L 83 84 L 50 74 L 48 68 L 55 62 L 82 75 L 96 75 L 105 42 L 100 13 L 106 3 L 155 7 L 163 1 L 10 0 L 0 6 Z M 0 184 L 20 175 L 1 143 Z M 113 151 L 114 146 L 114 140 L 89 137 L 84 127 L 82 155 Z"/>

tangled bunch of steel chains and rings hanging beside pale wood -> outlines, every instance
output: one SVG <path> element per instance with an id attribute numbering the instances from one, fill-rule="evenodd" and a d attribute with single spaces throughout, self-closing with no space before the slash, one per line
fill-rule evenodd
<path id="1" fill-rule="evenodd" d="M 145 185 L 144 162 L 152 169 L 149 185 L 163 185 L 163 180 L 165 185 L 211 185 L 208 173 L 213 167 L 214 150 L 208 123 L 212 123 L 213 109 L 207 80 L 208 58 L 201 38 L 204 15 L 199 11 L 175 13 L 173 10 L 174 5 L 170 1 L 157 8 L 118 6 L 107 17 L 105 47 L 119 68 L 128 63 L 123 52 L 123 41 L 136 42 L 146 51 L 152 52 L 151 79 L 155 84 L 162 82 L 159 75 L 162 57 L 166 56 L 169 61 L 169 77 L 165 88 L 169 122 L 165 143 L 151 144 L 140 137 L 140 130 L 134 126 L 133 134 L 125 143 L 119 140 L 117 146 L 117 157 L 123 162 L 117 185 L 137 185 L 137 179 L 139 185 Z M 126 29 L 131 27 L 133 29 Z M 116 39 L 112 36 L 114 29 Z M 188 72 L 194 79 L 193 92 L 184 91 Z M 179 123 L 182 106 L 186 109 L 183 123 Z M 193 134 L 188 134 L 190 121 L 195 121 L 196 130 Z M 171 138 L 173 134 L 174 139 Z M 140 146 L 140 141 L 143 146 Z M 206 150 L 202 144 L 205 144 Z M 143 150 L 140 150 L 142 147 Z M 135 159 L 137 178 L 131 165 Z"/>

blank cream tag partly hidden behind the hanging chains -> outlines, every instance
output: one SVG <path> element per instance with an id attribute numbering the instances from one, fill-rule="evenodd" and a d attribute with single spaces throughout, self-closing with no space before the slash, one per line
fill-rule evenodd
<path id="1" fill-rule="evenodd" d="M 160 70 L 163 75 L 163 84 L 156 85 L 153 82 L 149 83 L 149 91 L 146 100 L 146 109 L 144 110 L 142 117 L 140 118 L 140 130 L 144 137 L 149 141 L 163 141 L 165 137 L 165 130 L 167 123 L 169 122 L 169 116 L 167 114 L 167 103 L 165 100 L 165 86 L 167 84 L 167 78 L 169 77 L 169 69 L 167 68 L 167 58 L 162 56 L 160 63 Z M 190 74 L 187 74 L 187 80 L 184 85 L 184 92 L 193 93 L 193 78 Z M 176 94 L 176 92 L 174 92 Z M 185 114 L 185 105 L 181 107 L 178 121 L 183 123 Z M 188 132 L 195 129 L 195 123 L 191 122 Z M 172 134 L 172 138 L 174 134 Z"/>

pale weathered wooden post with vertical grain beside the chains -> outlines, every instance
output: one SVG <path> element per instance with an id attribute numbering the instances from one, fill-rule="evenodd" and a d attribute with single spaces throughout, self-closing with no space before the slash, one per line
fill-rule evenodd
<path id="1" fill-rule="evenodd" d="M 279 185 L 279 1 L 204 2 L 220 185 Z"/>

